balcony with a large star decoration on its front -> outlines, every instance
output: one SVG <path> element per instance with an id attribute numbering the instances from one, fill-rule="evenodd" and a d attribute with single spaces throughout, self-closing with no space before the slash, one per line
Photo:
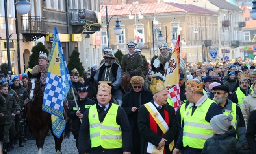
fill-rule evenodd
<path id="1" fill-rule="evenodd" d="M 70 12 L 72 33 L 93 34 L 96 31 L 100 31 L 101 24 L 98 23 L 95 11 L 87 9 L 71 9 Z"/>

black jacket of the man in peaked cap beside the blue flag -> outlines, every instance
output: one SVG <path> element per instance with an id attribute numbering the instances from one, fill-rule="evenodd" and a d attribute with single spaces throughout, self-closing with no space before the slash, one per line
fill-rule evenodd
<path id="1" fill-rule="evenodd" d="M 80 108 L 80 112 L 82 114 L 84 114 L 85 112 L 85 105 L 93 105 L 95 104 L 95 101 L 89 99 L 89 98 L 85 98 L 84 100 L 80 100 L 80 98 L 78 98 L 78 100 L 76 100 L 78 107 Z M 75 110 L 74 110 L 75 109 Z M 72 132 L 74 135 L 79 133 L 79 129 L 80 129 L 80 125 L 81 125 L 81 121 L 78 118 L 78 116 L 76 116 L 76 103 L 75 101 L 71 101 L 71 103 L 69 104 L 69 111 L 68 111 L 68 117 L 72 119 Z"/>

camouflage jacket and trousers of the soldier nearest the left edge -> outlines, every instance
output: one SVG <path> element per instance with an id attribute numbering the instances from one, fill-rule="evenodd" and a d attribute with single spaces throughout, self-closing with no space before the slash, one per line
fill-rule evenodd
<path id="1" fill-rule="evenodd" d="M 0 132 L 3 132 L 3 143 L 9 143 L 9 130 L 11 123 L 13 122 L 13 117 L 11 114 L 17 113 L 17 103 L 13 96 L 9 94 L 2 94 L 6 100 L 6 113 L 4 114 L 4 122 L 0 123 Z"/>

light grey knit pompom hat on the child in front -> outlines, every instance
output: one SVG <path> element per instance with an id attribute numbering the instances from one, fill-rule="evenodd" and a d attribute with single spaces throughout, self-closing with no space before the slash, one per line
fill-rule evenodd
<path id="1" fill-rule="evenodd" d="M 231 126 L 232 119 L 233 116 L 231 114 L 228 114 L 228 116 L 225 114 L 219 114 L 211 118 L 210 123 L 213 129 L 215 129 L 219 134 L 224 134 Z"/>

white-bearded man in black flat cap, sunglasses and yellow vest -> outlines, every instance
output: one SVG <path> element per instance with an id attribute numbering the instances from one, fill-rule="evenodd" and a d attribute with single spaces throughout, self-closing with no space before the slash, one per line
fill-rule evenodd
<path id="1" fill-rule="evenodd" d="M 236 136 L 245 146 L 247 146 L 247 141 L 245 138 L 246 127 L 243 114 L 240 107 L 228 99 L 228 87 L 218 85 L 213 87 L 212 90 L 214 90 L 213 101 L 215 101 L 221 107 L 223 114 L 232 114 L 234 118 L 231 121 L 231 125 L 236 129 Z"/>

